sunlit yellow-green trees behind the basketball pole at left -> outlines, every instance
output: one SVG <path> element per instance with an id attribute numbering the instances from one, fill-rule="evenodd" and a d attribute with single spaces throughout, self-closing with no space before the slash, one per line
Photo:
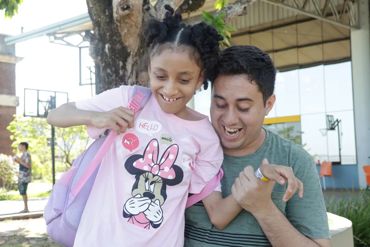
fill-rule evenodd
<path id="1" fill-rule="evenodd" d="M 7 129 L 13 133 L 12 147 L 14 153 L 19 143 L 28 143 L 28 151 L 32 159 L 32 178 L 51 181 L 51 147 L 47 138 L 51 138 L 51 126 L 46 119 L 36 117 L 16 117 Z M 55 127 L 55 171 L 63 172 L 73 164 L 73 160 L 86 149 L 89 144 L 86 126 L 70 128 Z M 18 154 L 20 156 L 20 154 Z"/>

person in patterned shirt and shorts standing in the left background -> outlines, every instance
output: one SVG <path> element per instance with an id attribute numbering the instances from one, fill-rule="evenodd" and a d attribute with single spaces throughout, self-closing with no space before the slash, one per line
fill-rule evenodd
<path id="1" fill-rule="evenodd" d="M 28 213 L 27 186 L 31 182 L 31 154 L 27 151 L 28 143 L 26 142 L 20 143 L 18 150 L 22 152 L 22 156 L 16 157 L 15 161 L 19 163 L 18 187 L 24 202 L 24 210 L 19 213 Z"/>

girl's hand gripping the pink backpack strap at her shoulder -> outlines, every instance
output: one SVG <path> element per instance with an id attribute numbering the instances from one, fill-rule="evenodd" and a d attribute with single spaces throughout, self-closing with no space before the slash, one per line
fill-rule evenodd
<path id="1" fill-rule="evenodd" d="M 96 128 L 111 127 L 118 136 L 124 133 L 127 128 L 134 127 L 135 111 L 125 107 L 118 107 L 110 111 L 95 112 L 91 116 L 91 125 Z"/>

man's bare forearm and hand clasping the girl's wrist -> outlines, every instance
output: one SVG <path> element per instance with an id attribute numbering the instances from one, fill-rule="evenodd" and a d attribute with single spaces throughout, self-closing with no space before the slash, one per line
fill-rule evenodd
<path id="1" fill-rule="evenodd" d="M 303 184 L 306 187 L 305 182 Z M 240 173 L 239 178 L 235 180 L 235 184 L 232 186 L 232 194 L 235 201 L 252 213 L 259 221 L 264 233 L 274 247 L 330 247 L 329 238 L 311 240 L 289 222 L 271 199 L 274 185 L 275 181 L 265 182 L 256 178 L 253 168 L 247 166 L 244 172 Z M 290 200 L 302 200 L 303 202 L 303 198 L 295 196 Z M 290 200 L 288 203 L 290 203 Z M 304 213 L 303 207 L 296 210 L 300 210 L 301 214 Z M 317 220 L 322 220 L 322 218 Z"/>

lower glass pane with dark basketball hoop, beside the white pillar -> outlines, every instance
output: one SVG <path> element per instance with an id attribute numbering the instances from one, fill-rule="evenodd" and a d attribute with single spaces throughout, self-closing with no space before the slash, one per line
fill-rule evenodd
<path id="1" fill-rule="evenodd" d="M 327 113 L 333 115 L 334 121 L 341 120 L 340 127 L 340 146 L 342 164 L 357 164 L 356 143 L 354 137 L 354 118 L 353 111 L 340 111 Z M 327 143 L 329 161 L 339 161 L 339 140 L 338 129 L 327 131 Z"/>

